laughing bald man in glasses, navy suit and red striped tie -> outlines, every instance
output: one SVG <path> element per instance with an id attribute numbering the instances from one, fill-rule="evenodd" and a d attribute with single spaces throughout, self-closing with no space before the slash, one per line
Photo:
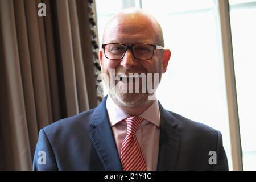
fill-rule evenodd
<path id="1" fill-rule="evenodd" d="M 34 169 L 227 170 L 219 131 L 152 99 L 148 88 L 156 89 L 171 56 L 163 47 L 151 15 L 141 9 L 115 14 L 99 52 L 109 95 L 95 109 L 40 130 Z"/>

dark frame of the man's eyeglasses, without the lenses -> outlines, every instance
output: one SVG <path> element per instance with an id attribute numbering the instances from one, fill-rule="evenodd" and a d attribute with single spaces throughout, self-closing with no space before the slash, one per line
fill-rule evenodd
<path id="1" fill-rule="evenodd" d="M 120 44 L 120 43 L 109 43 L 109 44 Z M 109 57 L 106 56 L 106 53 L 105 53 L 105 47 L 109 44 L 102 44 L 101 48 L 104 49 L 104 55 L 106 58 L 110 59 Z M 152 53 L 152 56 L 149 58 L 149 59 L 152 59 L 152 57 L 154 56 L 154 52 L 155 52 L 155 49 L 164 49 L 162 46 L 158 46 L 158 45 L 154 45 L 154 44 L 146 44 L 146 43 L 140 43 L 140 44 L 130 44 L 130 45 L 126 45 L 126 44 L 120 44 L 120 45 L 123 45 L 125 46 L 125 52 L 123 53 L 123 56 L 120 58 L 120 59 L 123 59 L 123 57 L 125 56 L 125 53 L 127 51 L 127 49 L 131 50 L 131 53 L 133 54 L 133 57 L 135 59 L 138 59 L 137 57 L 135 57 L 134 53 L 133 53 L 133 46 L 135 45 L 150 45 L 150 46 L 153 46 L 153 53 Z M 120 60 L 120 59 L 111 59 L 111 60 Z M 138 60 L 149 60 L 149 59 L 138 59 Z"/>

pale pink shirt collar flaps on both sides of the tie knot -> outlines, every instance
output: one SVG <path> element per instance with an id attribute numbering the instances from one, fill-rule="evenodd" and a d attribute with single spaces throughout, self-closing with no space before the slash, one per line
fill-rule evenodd
<path id="1" fill-rule="evenodd" d="M 118 107 L 110 96 L 107 97 L 106 100 L 106 109 L 109 114 L 110 126 L 114 126 L 118 122 L 122 121 L 125 118 L 130 117 L 131 115 L 125 113 L 120 107 Z M 143 122 L 151 122 L 156 126 L 160 127 L 160 113 L 158 100 L 154 100 L 150 107 L 148 107 L 139 117 L 144 118 L 146 121 Z M 143 125 L 142 122 L 142 125 Z"/>

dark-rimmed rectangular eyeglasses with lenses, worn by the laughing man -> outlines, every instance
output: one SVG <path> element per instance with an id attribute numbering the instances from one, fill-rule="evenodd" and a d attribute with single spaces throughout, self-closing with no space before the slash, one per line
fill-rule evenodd
<path id="1" fill-rule="evenodd" d="M 127 49 L 130 49 L 135 59 L 138 60 L 151 59 L 154 55 L 155 49 L 164 49 L 162 46 L 146 43 L 133 45 L 110 43 L 102 44 L 102 48 L 104 49 L 105 57 L 112 60 L 123 59 Z"/>

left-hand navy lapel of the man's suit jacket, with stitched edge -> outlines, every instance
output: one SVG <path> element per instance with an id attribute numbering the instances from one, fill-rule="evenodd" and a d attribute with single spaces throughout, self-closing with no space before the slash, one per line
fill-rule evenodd
<path id="1" fill-rule="evenodd" d="M 89 134 L 92 144 L 106 170 L 122 170 L 122 165 L 115 146 L 114 137 L 109 125 L 106 111 L 106 96 L 93 111 L 90 122 L 92 130 Z"/>

